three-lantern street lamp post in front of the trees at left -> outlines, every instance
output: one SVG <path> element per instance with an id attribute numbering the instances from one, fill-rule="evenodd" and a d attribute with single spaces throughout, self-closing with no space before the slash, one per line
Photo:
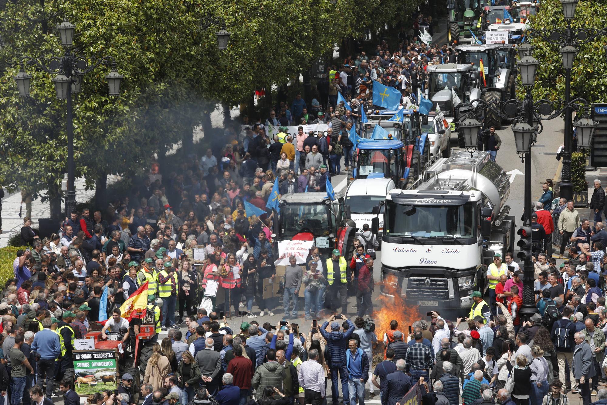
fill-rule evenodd
<path id="1" fill-rule="evenodd" d="M 111 66 L 112 72 L 106 76 L 109 95 L 120 95 L 120 84 L 123 76 L 116 71 L 116 62 L 113 57 L 84 57 L 81 52 L 74 50 L 73 32 L 75 26 L 68 21 L 59 24 L 56 29 L 59 31 L 61 45 L 64 47 L 64 54 L 60 57 L 51 57 L 46 63 L 45 59 L 37 59 L 29 56 L 22 57 L 22 63 L 27 66 L 34 66 L 37 69 L 55 74 L 52 81 L 55 84 L 56 98 L 67 100 L 67 190 L 65 196 L 66 216 L 76 208 L 76 190 L 74 186 L 74 151 L 73 151 L 73 116 L 72 116 L 72 94 L 78 94 L 81 91 L 84 74 L 96 69 L 103 64 Z M 15 75 L 15 81 L 21 97 L 30 95 L 30 79 L 32 75 L 25 73 L 22 69 Z"/>

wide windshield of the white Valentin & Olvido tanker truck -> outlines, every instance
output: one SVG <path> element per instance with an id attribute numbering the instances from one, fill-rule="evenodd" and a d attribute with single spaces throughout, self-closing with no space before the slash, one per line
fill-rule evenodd
<path id="1" fill-rule="evenodd" d="M 411 206 L 386 201 L 384 233 L 392 237 L 471 238 L 474 236 L 473 203 L 461 206 Z"/>

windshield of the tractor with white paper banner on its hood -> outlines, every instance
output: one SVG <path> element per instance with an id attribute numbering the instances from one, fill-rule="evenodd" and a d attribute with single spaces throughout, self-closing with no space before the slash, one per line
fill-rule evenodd
<path id="1" fill-rule="evenodd" d="M 293 237 L 299 232 L 328 235 L 332 215 L 327 215 L 325 204 L 285 204 L 280 206 L 280 230 L 283 237 Z"/>

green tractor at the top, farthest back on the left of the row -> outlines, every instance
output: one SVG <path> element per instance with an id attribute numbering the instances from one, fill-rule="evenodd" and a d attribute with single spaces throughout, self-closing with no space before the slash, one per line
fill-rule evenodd
<path id="1" fill-rule="evenodd" d="M 449 17 L 449 43 L 459 43 L 459 36 L 472 38 L 470 31 L 475 35 L 481 29 L 483 0 L 451 0 L 447 2 Z"/>

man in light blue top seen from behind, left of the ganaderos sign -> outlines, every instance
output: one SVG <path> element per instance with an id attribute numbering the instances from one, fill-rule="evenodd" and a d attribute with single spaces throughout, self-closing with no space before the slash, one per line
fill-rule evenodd
<path id="1" fill-rule="evenodd" d="M 55 378 L 56 359 L 61 356 L 61 342 L 59 335 L 50 329 L 52 320 L 42 319 L 42 329 L 36 332 L 32 342 L 32 351 L 38 353 L 40 359 L 36 361 L 37 380 L 39 384 L 44 379 L 46 373 L 46 396 L 51 398 L 53 394 L 53 380 Z"/>

